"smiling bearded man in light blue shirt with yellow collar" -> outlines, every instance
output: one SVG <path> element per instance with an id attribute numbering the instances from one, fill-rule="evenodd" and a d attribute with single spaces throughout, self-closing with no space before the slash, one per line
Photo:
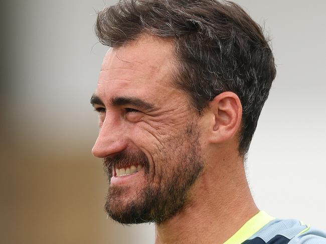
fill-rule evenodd
<path id="1" fill-rule="evenodd" d="M 276 69 L 261 28 L 233 2 L 121 0 L 98 13 L 106 53 L 91 103 L 105 210 L 155 222 L 155 243 L 326 243 L 259 211 L 244 157 Z"/>

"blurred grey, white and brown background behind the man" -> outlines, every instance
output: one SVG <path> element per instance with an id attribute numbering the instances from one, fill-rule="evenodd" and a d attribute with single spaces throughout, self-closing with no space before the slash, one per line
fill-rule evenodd
<path id="1" fill-rule="evenodd" d="M 115 1 L 2 1 L 1 243 L 153 243 L 154 226 L 106 218 L 89 104 Z M 272 39 L 277 77 L 247 160 L 261 209 L 326 230 L 326 2 L 236 0 Z"/>

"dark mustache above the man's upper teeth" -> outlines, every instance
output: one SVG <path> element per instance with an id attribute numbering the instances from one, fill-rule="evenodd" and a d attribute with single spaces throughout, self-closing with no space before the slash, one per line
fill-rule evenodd
<path id="1" fill-rule="evenodd" d="M 103 158 L 104 169 L 108 174 L 112 174 L 112 168 L 122 168 L 130 165 L 141 164 L 145 170 L 149 168 L 149 162 L 146 154 L 139 150 L 137 152 L 121 151 L 112 156 Z"/>

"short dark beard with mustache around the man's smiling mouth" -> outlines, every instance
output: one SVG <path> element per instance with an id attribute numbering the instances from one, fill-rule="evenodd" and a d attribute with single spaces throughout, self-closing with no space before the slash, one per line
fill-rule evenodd
<path id="1" fill-rule="evenodd" d="M 109 180 L 112 168 L 138 162 L 144 168 L 146 182 L 133 192 L 133 196 L 127 193 L 131 191 L 130 186 L 109 185 L 105 203 L 108 215 L 122 224 L 159 224 L 176 215 L 189 203 L 189 189 L 204 167 L 199 137 L 197 124 L 188 124 L 179 134 L 161 142 L 151 153 L 151 166 L 141 150 L 124 150 L 104 158 Z"/>

